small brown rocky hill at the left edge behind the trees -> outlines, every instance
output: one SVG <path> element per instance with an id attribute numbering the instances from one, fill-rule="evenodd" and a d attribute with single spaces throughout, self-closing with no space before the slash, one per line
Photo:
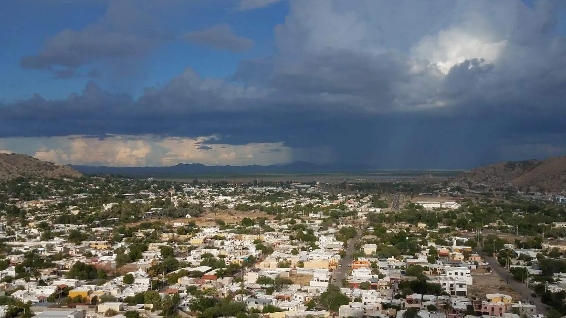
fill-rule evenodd
<path id="1" fill-rule="evenodd" d="M 0 180 L 17 177 L 61 178 L 81 176 L 82 174 L 68 166 L 41 161 L 25 154 L 0 153 Z"/>

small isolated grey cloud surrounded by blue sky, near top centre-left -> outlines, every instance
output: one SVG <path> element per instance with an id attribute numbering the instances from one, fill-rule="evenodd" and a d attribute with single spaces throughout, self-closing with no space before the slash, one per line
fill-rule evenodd
<path id="1" fill-rule="evenodd" d="M 249 50 L 254 46 L 254 41 L 249 38 L 235 35 L 233 29 L 228 24 L 217 24 L 203 31 L 188 32 L 181 38 L 196 45 L 237 53 Z"/>

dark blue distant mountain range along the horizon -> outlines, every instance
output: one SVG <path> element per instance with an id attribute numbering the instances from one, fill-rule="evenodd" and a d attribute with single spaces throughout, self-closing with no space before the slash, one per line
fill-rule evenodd
<path id="1" fill-rule="evenodd" d="M 109 167 L 74 166 L 84 174 L 117 174 L 131 177 L 205 175 L 205 174 L 317 174 L 338 172 L 363 172 L 370 170 L 363 166 L 318 165 L 310 162 L 294 162 L 286 165 L 248 166 L 206 166 L 203 164 L 178 164 L 165 167 Z"/>

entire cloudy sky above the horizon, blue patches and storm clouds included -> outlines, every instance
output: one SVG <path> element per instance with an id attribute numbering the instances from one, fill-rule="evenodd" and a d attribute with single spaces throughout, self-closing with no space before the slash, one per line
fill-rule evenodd
<path id="1" fill-rule="evenodd" d="M 466 169 L 566 155 L 560 0 L 19 0 L 0 153 Z"/>

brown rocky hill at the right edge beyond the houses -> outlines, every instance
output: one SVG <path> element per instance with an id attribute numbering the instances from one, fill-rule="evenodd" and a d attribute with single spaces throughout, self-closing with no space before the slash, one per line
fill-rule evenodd
<path id="1" fill-rule="evenodd" d="M 566 190 L 566 157 L 546 160 L 507 161 L 472 169 L 458 175 L 464 187 L 514 187 L 521 191 Z"/>

